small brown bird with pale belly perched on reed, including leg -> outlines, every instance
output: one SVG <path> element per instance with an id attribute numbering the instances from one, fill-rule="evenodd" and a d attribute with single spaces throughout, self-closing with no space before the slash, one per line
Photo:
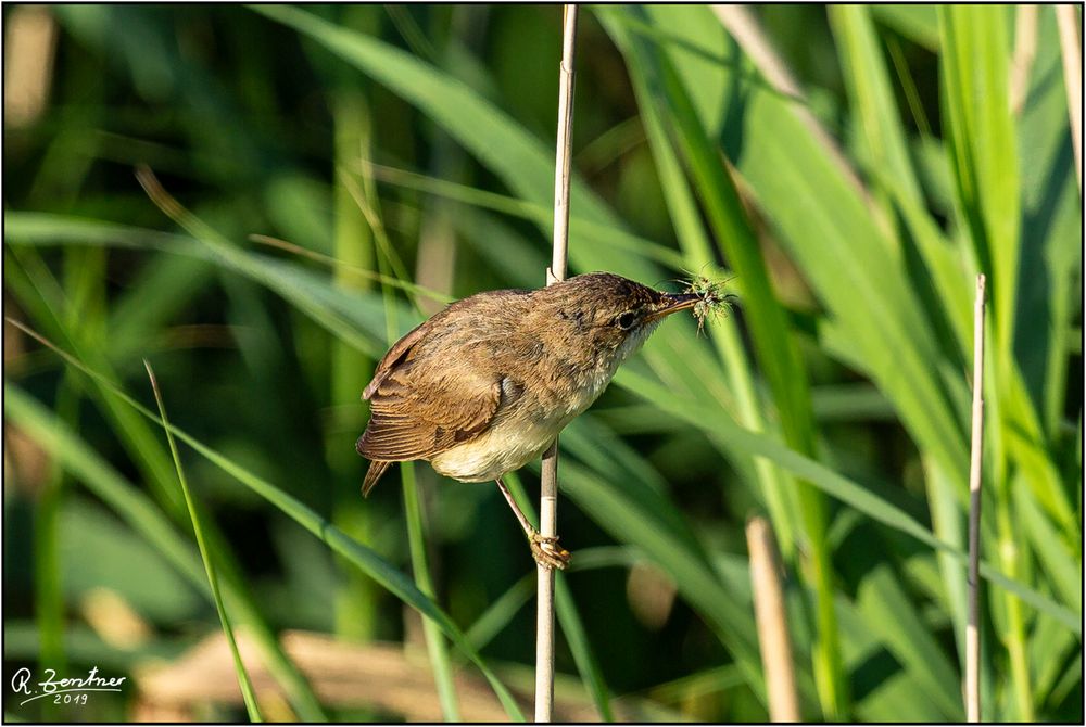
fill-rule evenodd
<path id="1" fill-rule="evenodd" d="M 363 495 L 392 462 L 416 459 L 460 482 L 493 480 L 536 562 L 564 569 L 569 552 L 532 527 L 502 475 L 541 457 L 665 316 L 703 297 L 593 272 L 451 304 L 400 339 L 363 392 Z"/>

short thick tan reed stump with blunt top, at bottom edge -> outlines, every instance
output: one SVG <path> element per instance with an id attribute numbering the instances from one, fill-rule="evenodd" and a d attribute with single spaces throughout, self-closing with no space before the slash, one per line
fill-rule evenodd
<path id="1" fill-rule="evenodd" d="M 772 722 L 799 722 L 792 639 L 788 637 L 773 528 L 765 518 L 752 518 L 746 533 L 758 645 L 761 648 L 761 664 L 766 671 L 766 691 L 769 697 L 769 718 Z"/>

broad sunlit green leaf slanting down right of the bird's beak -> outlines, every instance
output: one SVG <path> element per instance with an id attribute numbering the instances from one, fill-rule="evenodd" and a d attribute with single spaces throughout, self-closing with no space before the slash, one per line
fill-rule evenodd
<path id="1" fill-rule="evenodd" d="M 708 11 L 706 17 L 711 22 Z M 894 401 L 913 438 L 961 483 L 963 495 L 962 424 L 948 414 L 933 375 L 938 349 L 912 304 L 901 262 L 892 257 L 855 188 L 792 114 L 793 102 L 729 73 L 744 81 L 743 154 L 734 163 L 755 201 L 835 323 L 847 331 L 863 371 Z"/>

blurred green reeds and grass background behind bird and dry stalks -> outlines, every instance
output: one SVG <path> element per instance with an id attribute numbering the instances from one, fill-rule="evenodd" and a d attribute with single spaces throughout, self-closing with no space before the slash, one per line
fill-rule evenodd
<path id="1" fill-rule="evenodd" d="M 247 717 L 143 359 L 265 718 L 531 714 L 534 567 L 496 488 L 419 464 L 363 500 L 353 444 L 390 342 L 544 282 L 560 15 L 4 5 L 4 314 L 71 356 L 4 324 L 5 719 Z M 561 437 L 558 716 L 765 719 L 760 514 L 804 718 L 963 718 L 983 271 L 984 715 L 1082 722 L 1065 20 L 582 10 L 571 273 L 738 302 L 665 323 Z M 96 666 L 123 689 L 10 683 Z"/>

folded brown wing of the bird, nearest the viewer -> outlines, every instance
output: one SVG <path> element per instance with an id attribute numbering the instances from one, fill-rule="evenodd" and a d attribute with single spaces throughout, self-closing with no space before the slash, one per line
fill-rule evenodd
<path id="1" fill-rule="evenodd" d="M 369 425 L 358 454 L 370 460 L 428 459 L 482 434 L 502 404 L 502 377 L 458 374 L 409 361 L 392 368 L 370 392 Z"/>

